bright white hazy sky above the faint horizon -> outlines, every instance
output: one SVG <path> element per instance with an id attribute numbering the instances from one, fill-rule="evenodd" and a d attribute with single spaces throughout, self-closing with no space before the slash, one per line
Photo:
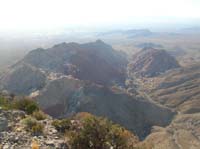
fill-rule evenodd
<path id="1" fill-rule="evenodd" d="M 200 0 L 0 0 L 0 30 L 200 18 Z M 158 19 L 159 18 L 159 19 Z"/>

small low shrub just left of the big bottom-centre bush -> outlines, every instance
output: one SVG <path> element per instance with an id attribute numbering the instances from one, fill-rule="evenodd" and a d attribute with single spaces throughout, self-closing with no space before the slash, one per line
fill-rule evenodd
<path id="1" fill-rule="evenodd" d="M 54 120 L 52 125 L 58 130 L 58 132 L 64 133 L 71 127 L 71 121 L 69 119 Z"/>

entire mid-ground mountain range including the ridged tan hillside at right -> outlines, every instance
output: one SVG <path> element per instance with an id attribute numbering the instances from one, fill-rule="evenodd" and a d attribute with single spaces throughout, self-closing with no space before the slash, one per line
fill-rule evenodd
<path id="1" fill-rule="evenodd" d="M 198 78 L 198 64 L 182 67 L 163 49 L 145 47 L 128 59 L 97 40 L 30 51 L 0 76 L 0 89 L 31 97 L 54 118 L 88 112 L 156 144 L 175 131 L 176 116 L 183 125 L 184 114 L 198 113 Z"/>

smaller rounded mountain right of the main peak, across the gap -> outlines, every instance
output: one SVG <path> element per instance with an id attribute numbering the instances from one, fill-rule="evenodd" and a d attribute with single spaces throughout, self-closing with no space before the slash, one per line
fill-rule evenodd
<path id="1" fill-rule="evenodd" d="M 129 73 L 153 77 L 178 67 L 176 59 L 165 50 L 144 48 L 132 57 L 128 69 Z"/>

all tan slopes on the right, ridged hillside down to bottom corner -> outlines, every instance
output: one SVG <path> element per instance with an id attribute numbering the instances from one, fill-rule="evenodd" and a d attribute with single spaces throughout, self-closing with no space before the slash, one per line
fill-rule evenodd
<path id="1" fill-rule="evenodd" d="M 200 148 L 199 66 L 197 63 L 156 77 L 138 79 L 141 91 L 178 112 L 169 126 L 154 126 L 144 143 L 153 144 L 155 149 Z"/>

